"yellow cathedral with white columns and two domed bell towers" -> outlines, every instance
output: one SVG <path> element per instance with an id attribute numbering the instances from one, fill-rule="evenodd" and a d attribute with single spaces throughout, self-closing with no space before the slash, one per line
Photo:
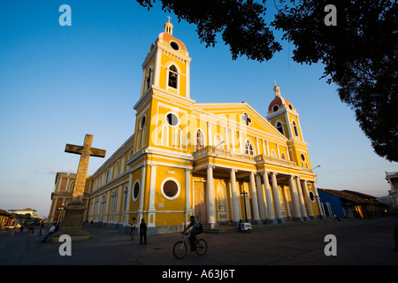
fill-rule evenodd
<path id="1" fill-rule="evenodd" d="M 88 176 L 85 219 L 123 232 L 180 232 L 189 217 L 212 229 L 317 218 L 316 174 L 299 114 L 275 84 L 266 119 L 248 103 L 195 103 L 187 47 L 173 26 L 149 48 L 134 134 Z M 271 91 L 272 93 L 272 91 Z M 76 175 L 58 172 L 50 221 L 60 221 Z"/>

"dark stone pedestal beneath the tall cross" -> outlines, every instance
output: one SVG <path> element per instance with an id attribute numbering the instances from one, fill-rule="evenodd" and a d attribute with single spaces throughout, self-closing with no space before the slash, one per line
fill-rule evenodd
<path id="1" fill-rule="evenodd" d="M 71 236 L 72 241 L 90 239 L 90 233 L 83 230 L 84 211 L 86 208 L 81 203 L 68 203 L 65 207 L 64 224 L 57 233 L 50 236 L 50 242 L 58 242 L 62 234 Z"/>

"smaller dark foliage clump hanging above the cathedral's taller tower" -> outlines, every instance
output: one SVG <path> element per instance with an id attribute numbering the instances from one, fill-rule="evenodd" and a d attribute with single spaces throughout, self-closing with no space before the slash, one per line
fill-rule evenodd
<path id="1" fill-rule="evenodd" d="M 155 0 L 137 0 L 151 8 Z M 164 11 L 173 11 L 179 20 L 195 24 L 197 34 L 206 47 L 214 46 L 221 34 L 230 46 L 233 59 L 246 55 L 264 61 L 281 50 L 272 31 L 264 22 L 265 7 L 253 0 L 161 0 Z"/>

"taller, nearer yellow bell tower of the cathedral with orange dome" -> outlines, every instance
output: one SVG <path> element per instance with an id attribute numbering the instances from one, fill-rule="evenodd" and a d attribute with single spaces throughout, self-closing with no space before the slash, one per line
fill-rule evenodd
<path id="1" fill-rule="evenodd" d="M 142 63 L 140 99 L 134 105 L 134 153 L 142 149 L 188 150 L 188 113 L 195 103 L 189 90 L 191 58 L 175 38 L 169 20 Z"/>

